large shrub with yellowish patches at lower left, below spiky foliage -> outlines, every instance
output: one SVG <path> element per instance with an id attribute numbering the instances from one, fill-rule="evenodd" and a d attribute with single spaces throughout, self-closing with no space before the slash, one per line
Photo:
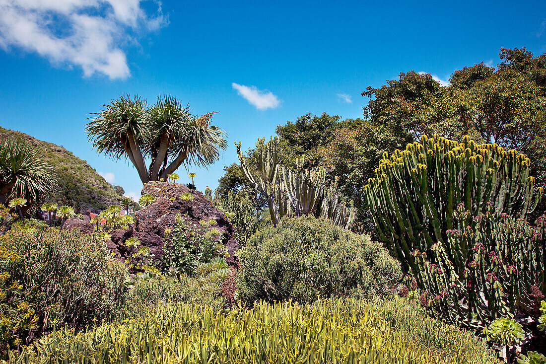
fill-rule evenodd
<path id="1" fill-rule="evenodd" d="M 2 314 L 25 322 L 0 320 L 2 330 L 13 331 L 13 343 L 63 325 L 77 331 L 99 324 L 123 293 L 126 269 L 107 257 L 97 236 L 15 228 L 0 236 L 0 251 L 7 257 L 0 260 L 2 286 L 10 287 L 0 302 Z"/>

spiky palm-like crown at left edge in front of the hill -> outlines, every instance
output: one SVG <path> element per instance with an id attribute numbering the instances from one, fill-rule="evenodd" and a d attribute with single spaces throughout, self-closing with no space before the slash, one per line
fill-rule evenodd
<path id="1" fill-rule="evenodd" d="M 51 196 L 51 172 L 37 148 L 19 139 L 0 139 L 0 202 L 21 197 L 32 204 Z"/>

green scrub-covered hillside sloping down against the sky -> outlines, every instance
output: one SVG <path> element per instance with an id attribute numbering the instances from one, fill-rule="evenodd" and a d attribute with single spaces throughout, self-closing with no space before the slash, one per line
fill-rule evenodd
<path id="1" fill-rule="evenodd" d="M 102 210 L 116 204 L 120 196 L 114 187 L 86 161 L 53 143 L 43 142 L 28 134 L 0 127 L 1 138 L 20 138 L 37 146 L 54 168 L 57 194 L 52 201 L 73 206 L 76 212 Z"/>

